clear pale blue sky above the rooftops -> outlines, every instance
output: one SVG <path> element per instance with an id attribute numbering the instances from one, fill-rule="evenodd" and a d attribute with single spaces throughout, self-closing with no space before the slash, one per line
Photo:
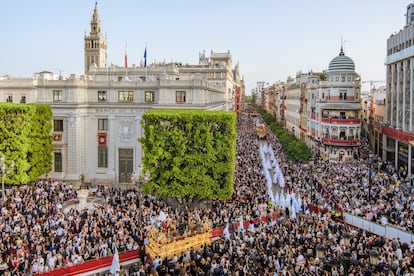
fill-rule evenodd
<path id="1" fill-rule="evenodd" d="M 414 0 L 412 0 L 414 2 Z M 385 80 L 386 41 L 405 25 L 407 0 L 101 0 L 109 63 L 197 64 L 199 52 L 230 50 L 250 93 L 257 81 L 322 71 L 341 37 L 363 81 Z M 93 0 L 2 0 L 0 76 L 43 70 L 83 74 Z"/>

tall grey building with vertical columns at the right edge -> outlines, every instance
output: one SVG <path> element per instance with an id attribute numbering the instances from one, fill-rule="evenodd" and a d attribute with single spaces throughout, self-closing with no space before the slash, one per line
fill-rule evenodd
<path id="1" fill-rule="evenodd" d="M 382 125 L 383 159 L 408 175 L 414 172 L 414 4 L 406 24 L 387 39 L 386 124 Z"/>

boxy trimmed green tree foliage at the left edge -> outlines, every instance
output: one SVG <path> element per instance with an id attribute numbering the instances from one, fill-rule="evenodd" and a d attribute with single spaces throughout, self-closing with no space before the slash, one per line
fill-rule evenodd
<path id="1" fill-rule="evenodd" d="M 27 183 L 47 173 L 52 164 L 52 112 L 37 104 L 0 104 L 0 153 L 15 162 L 5 183 Z"/>

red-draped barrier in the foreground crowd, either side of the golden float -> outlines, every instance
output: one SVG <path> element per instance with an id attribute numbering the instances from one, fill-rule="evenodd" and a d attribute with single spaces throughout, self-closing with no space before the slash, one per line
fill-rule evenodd
<path id="1" fill-rule="evenodd" d="M 268 217 L 257 217 L 252 219 L 253 223 L 257 224 L 258 220 L 261 220 L 263 223 L 267 222 Z M 276 219 L 276 213 L 272 214 L 272 220 Z M 243 228 L 247 229 L 249 227 L 250 221 L 244 221 L 243 222 Z M 237 231 L 237 228 L 239 227 L 238 223 L 234 224 L 235 231 Z M 217 239 L 223 235 L 224 228 L 215 228 L 211 231 L 211 238 Z M 229 232 L 232 232 L 233 229 L 230 228 Z M 36 276 L 74 276 L 74 275 L 91 275 L 94 273 L 109 271 L 111 264 L 112 264 L 112 258 L 113 256 L 109 256 L 106 258 L 101 258 L 95 261 L 88 261 L 84 262 L 82 264 L 59 268 L 50 272 L 44 272 L 41 274 L 33 274 Z M 119 253 L 119 263 L 120 265 L 129 265 L 138 262 L 139 259 L 139 250 L 130 250 L 126 252 Z"/>

